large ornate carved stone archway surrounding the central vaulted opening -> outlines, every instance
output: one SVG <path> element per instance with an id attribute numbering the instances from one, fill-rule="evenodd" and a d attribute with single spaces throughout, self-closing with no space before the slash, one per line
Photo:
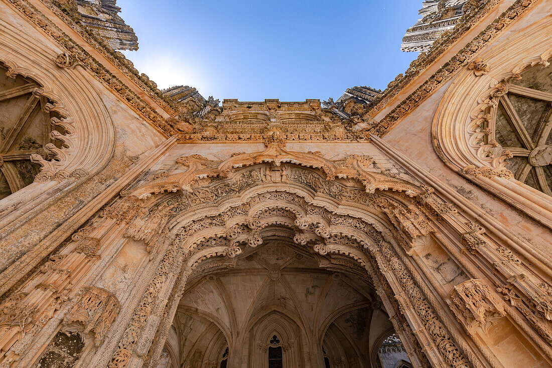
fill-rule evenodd
<path id="1" fill-rule="evenodd" d="M 50 324 L 54 328 L 55 319 L 44 316 L 55 310 L 47 312 L 45 299 L 33 304 L 44 286 L 72 278 L 78 283 L 86 270 L 104 267 L 98 255 L 119 249 L 122 239 L 143 241 L 150 262 L 142 282 L 129 286 L 132 295 L 117 314 L 110 338 L 89 364 L 155 367 L 190 275 L 256 248 L 277 227 L 296 246 L 345 256 L 360 267 L 415 366 L 500 366 L 511 357 L 482 342 L 499 327 L 525 339 L 519 349 L 532 346 L 543 357 L 538 359 L 550 360 L 552 309 L 544 291 L 550 288 L 549 270 L 530 270 L 523 258 L 498 246 L 431 188 L 386 174 L 367 156 L 329 161 L 275 143 L 222 162 L 197 155 L 177 162 L 184 170 L 152 181 L 138 178 L 123 198 L 73 235 L 63 262 L 78 261 L 76 274 L 46 268 L 41 287 L 29 285 L 28 296 L 8 307 L 32 307 L 30 320 L 40 320 L 45 331 Z M 433 262 L 450 271 L 434 269 Z M 512 277 L 520 274 L 528 276 Z M 486 278 L 495 285 L 481 281 Z M 515 300 L 512 306 L 493 288 Z M 60 296 L 49 298 L 62 307 Z M 537 306 L 542 314 L 527 306 Z M 29 344 L 45 339 L 43 332 L 17 329 Z M 9 341 L 4 351 L 17 354 Z M 28 356 L 20 364 L 31 362 Z M 514 358 L 534 359 L 528 354 Z"/>

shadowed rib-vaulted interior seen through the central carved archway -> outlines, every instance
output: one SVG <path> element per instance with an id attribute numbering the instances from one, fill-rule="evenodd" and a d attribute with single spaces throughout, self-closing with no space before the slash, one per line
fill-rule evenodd
<path id="1" fill-rule="evenodd" d="M 168 339 L 179 341 L 174 366 L 218 368 L 227 344 L 229 366 L 270 367 L 269 348 L 281 347 L 284 367 L 317 367 L 324 346 L 331 366 L 370 367 L 370 337 L 392 324 L 363 267 L 296 244 L 282 225 L 259 235 L 261 245 L 190 275 Z"/>

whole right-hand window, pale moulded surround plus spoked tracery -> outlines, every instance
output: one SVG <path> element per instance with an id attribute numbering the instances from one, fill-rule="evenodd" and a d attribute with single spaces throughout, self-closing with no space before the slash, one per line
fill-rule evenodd
<path id="1" fill-rule="evenodd" d="M 470 64 L 473 67 L 459 73 L 439 103 L 432 137 L 437 155 L 447 166 L 552 227 L 552 197 L 540 192 L 550 194 L 546 180 L 550 142 L 545 138 L 549 133 L 537 128 L 548 125 L 550 72 L 530 76 L 549 70 L 552 54 L 548 39 L 541 36 L 547 34 L 549 24 L 534 27 L 527 31 L 538 36 L 527 39 L 520 34 L 508 40 L 515 54 L 504 47 L 488 50 L 477 55 Z M 544 84 L 538 86 L 537 81 Z M 545 147 L 535 145 L 539 141 Z M 529 163 L 532 153 L 539 162 L 532 157 L 535 166 Z"/>

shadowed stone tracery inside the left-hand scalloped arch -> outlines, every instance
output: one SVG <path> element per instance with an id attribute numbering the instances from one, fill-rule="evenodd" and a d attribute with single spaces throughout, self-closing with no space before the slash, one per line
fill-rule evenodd
<path id="1" fill-rule="evenodd" d="M 34 181 L 40 165 L 31 162 L 31 155 L 47 160 L 46 145 L 61 148 L 62 141 L 52 137 L 65 132 L 50 123 L 60 118 L 52 107 L 37 82 L 12 75 L 0 64 L 0 199 Z"/>

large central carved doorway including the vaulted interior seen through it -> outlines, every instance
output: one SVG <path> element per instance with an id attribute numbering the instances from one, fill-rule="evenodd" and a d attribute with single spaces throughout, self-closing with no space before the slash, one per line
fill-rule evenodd
<path id="1" fill-rule="evenodd" d="M 97 241 L 88 235 L 73 237 L 75 244 L 69 252 L 76 258 L 88 257 L 83 267 L 93 267 L 98 261 L 94 255 L 114 242 L 119 246 L 125 241 L 126 245 L 142 244 L 144 254 L 142 281 L 125 288 L 132 295 L 110 329 L 110 338 L 87 357 L 92 366 L 119 368 L 140 362 L 156 367 L 173 334 L 175 316 L 181 312 L 190 316 L 189 323 L 203 327 L 194 328 L 196 338 L 186 343 L 191 348 L 176 352 L 171 344 L 168 350 L 177 357 L 175 361 L 182 364 L 186 358 L 193 365 L 220 364 L 226 346 L 230 366 L 236 365 L 234 359 L 247 364 L 265 348 L 263 361 L 268 365 L 269 347 L 282 348 L 283 366 L 286 359 L 301 364 L 305 352 L 310 355 L 304 366 L 321 366 L 325 364 L 323 346 L 335 355 L 330 364 L 348 364 L 351 359 L 352 365 L 359 365 L 363 356 L 372 356 L 378 337 L 358 348 L 358 341 L 366 339 L 360 331 L 354 333 L 358 338 L 352 338 L 347 323 L 353 321 L 358 326 L 359 320 L 368 320 L 364 317 L 369 314 L 368 307 L 373 314 L 385 311 L 383 316 L 388 316 L 390 329 L 400 338 L 413 366 L 459 368 L 468 367 L 470 360 L 481 361 L 484 355 L 470 353 L 469 359 L 465 358 L 466 351 L 473 351 L 469 344 L 474 340 L 465 338 L 463 331 L 485 336 L 487 330 L 503 328 L 516 333 L 504 318 L 505 307 L 495 292 L 476 278 L 479 272 L 465 259 L 457 260 L 455 245 L 444 241 L 436 227 L 446 225 L 451 231 L 447 236 L 459 236 L 457 244 L 464 249 L 495 249 L 496 257 L 503 259 L 508 254 L 500 253 L 476 223 L 466 223 L 430 188 L 383 173 L 371 157 L 352 155 L 329 161 L 316 153 L 288 152 L 269 144 L 266 151 L 236 154 L 222 162 L 198 155 L 179 157 L 177 165 L 184 169 L 179 166 L 176 174 L 153 181 L 147 175 L 138 178 L 128 195 L 106 208 L 86 229 L 87 234 L 100 229 L 105 236 L 98 235 Z M 271 246 L 273 242 L 277 243 Z M 285 259 L 291 263 L 267 262 L 274 254 L 289 255 Z M 523 266 L 521 261 L 516 264 Z M 46 281 L 52 275 L 48 267 Z M 252 272 L 243 275 L 262 277 L 236 281 L 245 277 L 240 272 L 248 269 Z M 309 271 L 301 274 L 301 269 Z M 294 285 L 304 291 L 286 287 L 290 282 L 282 280 L 289 278 L 288 274 L 295 275 L 299 281 Z M 311 274 L 320 276 L 321 281 L 305 282 L 305 275 Z M 356 289 L 357 301 L 332 306 L 331 301 L 347 298 L 339 292 L 328 303 L 316 297 L 324 287 L 315 285 L 330 285 L 326 295 L 332 295 L 331 286 L 344 280 L 349 280 L 348 285 L 338 290 Z M 264 282 L 273 287 L 262 287 Z M 256 287 L 248 290 L 250 286 Z M 31 292 L 40 292 L 36 290 Z M 367 290 L 365 295 L 359 292 Z M 187 291 L 196 296 L 187 297 Z M 225 314 L 240 311 L 233 306 L 243 302 L 248 293 L 253 302 L 243 308 L 247 313 Z M 481 316 L 463 312 L 471 297 L 477 297 L 482 305 Z M 201 298 L 200 305 L 193 304 Z M 378 301 L 382 305 L 376 309 Z M 443 307 L 445 301 L 448 309 Z M 306 312 L 305 306 L 310 306 Z M 211 309 L 205 310 L 208 307 Z M 326 307 L 336 307 L 327 318 Z M 368 330 L 382 329 L 370 323 Z M 174 334 L 175 340 L 187 336 L 178 331 Z M 517 344 L 524 346 L 519 340 Z M 487 355 L 495 348 L 475 346 Z M 274 354 L 273 359 L 278 357 Z"/>

